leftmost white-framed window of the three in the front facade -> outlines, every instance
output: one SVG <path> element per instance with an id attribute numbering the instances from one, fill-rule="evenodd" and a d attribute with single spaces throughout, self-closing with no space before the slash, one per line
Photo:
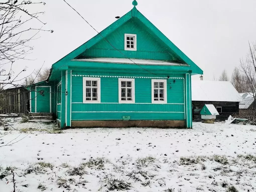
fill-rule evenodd
<path id="1" fill-rule="evenodd" d="M 100 78 L 83 77 L 83 103 L 100 103 Z"/>

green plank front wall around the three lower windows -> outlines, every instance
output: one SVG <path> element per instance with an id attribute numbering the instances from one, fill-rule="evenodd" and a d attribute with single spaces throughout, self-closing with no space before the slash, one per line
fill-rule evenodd
<path id="1" fill-rule="evenodd" d="M 72 71 L 72 74 L 80 75 L 81 72 Z M 82 74 L 88 75 L 85 72 Z M 121 74 L 112 73 L 111 75 L 120 76 Z M 139 77 L 140 74 L 125 73 L 125 75 L 126 77 Z M 101 103 L 85 104 L 83 103 L 83 77 L 72 76 L 71 119 L 120 120 L 122 116 L 131 116 L 131 120 L 184 120 L 184 75 L 175 75 L 175 77 L 182 77 L 181 79 L 172 79 L 173 76 L 169 76 L 167 104 L 151 104 L 152 78 L 134 78 L 135 104 L 119 104 L 118 77 L 101 77 Z"/>

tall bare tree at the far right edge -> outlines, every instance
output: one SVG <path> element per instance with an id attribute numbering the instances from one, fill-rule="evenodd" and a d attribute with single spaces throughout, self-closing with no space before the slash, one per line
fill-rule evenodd
<path id="1" fill-rule="evenodd" d="M 240 70 L 243 74 L 242 89 L 251 92 L 256 99 L 256 42 L 249 43 L 249 52 L 245 59 L 240 59 Z"/>

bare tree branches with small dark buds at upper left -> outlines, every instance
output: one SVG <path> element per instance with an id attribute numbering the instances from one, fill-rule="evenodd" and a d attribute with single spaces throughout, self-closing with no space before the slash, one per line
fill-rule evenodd
<path id="1" fill-rule="evenodd" d="M 42 25 L 46 24 L 38 18 L 43 12 L 28 11 L 33 4 L 45 5 L 44 2 L 17 0 L 0 3 L 0 89 L 17 86 L 20 82 L 19 76 L 26 68 L 14 75 L 12 66 L 16 60 L 27 59 L 26 55 L 31 53 L 33 46 L 28 42 L 36 39 L 39 31 L 53 32 L 30 26 L 33 20 Z"/>

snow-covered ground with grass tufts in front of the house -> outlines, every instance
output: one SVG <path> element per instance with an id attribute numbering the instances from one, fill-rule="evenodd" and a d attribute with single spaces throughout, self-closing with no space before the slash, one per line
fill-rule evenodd
<path id="1" fill-rule="evenodd" d="M 0 147 L 0 192 L 13 190 L 12 169 L 16 191 L 256 189 L 255 126 L 61 131 L 54 124 L 10 124 L 15 130 L 0 127 L 0 146 L 19 141 Z"/>

